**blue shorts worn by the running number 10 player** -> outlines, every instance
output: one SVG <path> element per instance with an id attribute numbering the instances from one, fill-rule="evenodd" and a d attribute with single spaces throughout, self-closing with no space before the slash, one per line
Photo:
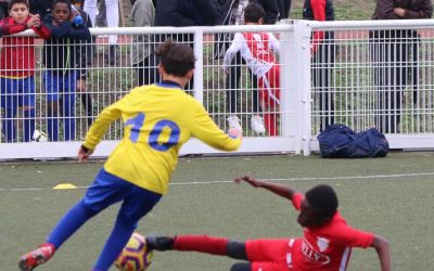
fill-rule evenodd
<path id="1" fill-rule="evenodd" d="M 98 214 L 110 205 L 123 202 L 119 215 L 122 214 L 132 221 L 138 221 L 161 198 L 161 194 L 125 181 L 102 168 L 94 182 L 87 190 L 82 203 L 87 208 Z"/>

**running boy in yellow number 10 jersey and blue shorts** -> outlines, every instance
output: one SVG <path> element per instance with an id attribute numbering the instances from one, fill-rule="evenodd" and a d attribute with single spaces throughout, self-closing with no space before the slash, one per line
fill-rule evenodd
<path id="1" fill-rule="evenodd" d="M 167 192 L 183 143 L 195 137 L 222 151 L 240 147 L 240 130 L 232 129 L 226 134 L 205 108 L 182 91 L 193 76 L 192 49 L 166 41 L 156 53 L 161 59 L 158 72 L 163 81 L 131 90 L 100 114 L 78 152 L 79 160 L 89 157 L 110 124 L 120 117 L 125 124 L 124 139 L 84 198 L 60 221 L 47 242 L 20 258 L 21 270 L 33 270 L 49 260 L 89 218 L 123 202 L 113 232 L 93 268 L 94 271 L 108 270 L 139 219 Z"/>

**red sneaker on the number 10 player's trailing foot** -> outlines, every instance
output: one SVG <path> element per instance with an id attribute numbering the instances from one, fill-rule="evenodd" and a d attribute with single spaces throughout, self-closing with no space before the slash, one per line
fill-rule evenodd
<path id="1" fill-rule="evenodd" d="M 30 271 L 34 270 L 39 264 L 44 263 L 51 257 L 53 257 L 55 253 L 55 247 L 52 244 L 44 243 L 39 246 L 39 248 L 29 251 L 20 257 L 20 270 L 22 271 Z"/>

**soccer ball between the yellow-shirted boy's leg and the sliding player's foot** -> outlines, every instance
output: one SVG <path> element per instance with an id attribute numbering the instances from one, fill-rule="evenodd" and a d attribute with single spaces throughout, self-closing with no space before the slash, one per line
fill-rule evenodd
<path id="1" fill-rule="evenodd" d="M 135 232 L 117 257 L 115 266 L 122 271 L 143 271 L 151 264 L 152 256 L 144 236 Z"/>

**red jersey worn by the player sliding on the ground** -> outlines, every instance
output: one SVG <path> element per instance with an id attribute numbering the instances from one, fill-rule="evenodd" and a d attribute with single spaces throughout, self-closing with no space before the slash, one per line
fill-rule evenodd
<path id="1" fill-rule="evenodd" d="M 299 210 L 304 195 L 296 193 L 292 199 Z M 296 238 L 292 246 L 294 270 L 346 270 L 352 247 L 367 248 L 372 245 L 374 235 L 349 227 L 339 211 L 332 220 L 318 228 L 305 228 L 304 237 Z"/>

